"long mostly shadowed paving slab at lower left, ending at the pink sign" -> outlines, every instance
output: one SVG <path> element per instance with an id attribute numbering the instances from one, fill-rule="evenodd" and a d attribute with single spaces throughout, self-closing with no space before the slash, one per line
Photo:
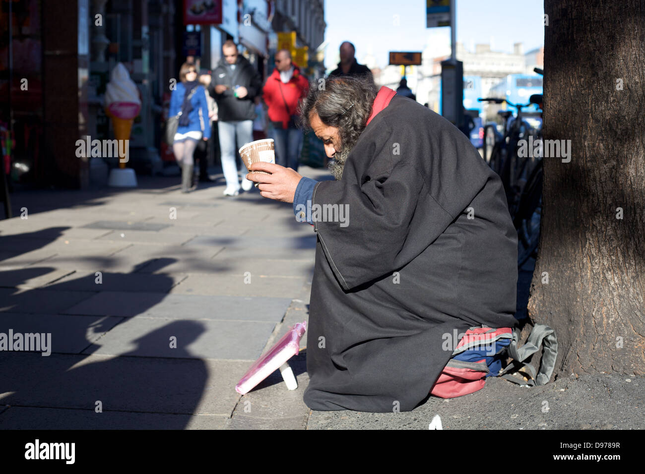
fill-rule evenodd
<path id="1" fill-rule="evenodd" d="M 230 417 L 250 361 L 0 353 L 0 404 Z M 3 413 L 4 415 L 5 413 Z M 1 419 L 2 415 L 0 415 Z M 53 426 L 52 428 L 58 428 Z"/>

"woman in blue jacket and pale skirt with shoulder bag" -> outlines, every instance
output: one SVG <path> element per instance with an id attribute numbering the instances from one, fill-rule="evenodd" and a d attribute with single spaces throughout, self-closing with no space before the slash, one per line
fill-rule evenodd
<path id="1" fill-rule="evenodd" d="M 172 145 L 181 168 L 181 192 L 192 187 L 193 153 L 199 140 L 210 138 L 206 90 L 197 81 L 195 64 L 184 63 L 179 69 L 179 84 L 170 96 L 169 116 L 179 115 L 179 125 Z"/>

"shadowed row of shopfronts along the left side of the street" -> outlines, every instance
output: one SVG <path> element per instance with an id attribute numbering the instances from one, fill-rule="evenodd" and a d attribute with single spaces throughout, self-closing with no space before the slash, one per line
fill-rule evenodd
<path id="1" fill-rule="evenodd" d="M 118 157 L 77 157 L 76 143 L 114 138 L 104 94 L 118 63 L 142 103 L 127 165 L 137 173 L 160 172 L 174 162 L 161 137 L 164 105 L 170 80 L 187 59 L 213 68 L 224 41 L 233 39 L 266 78 L 276 32 L 295 32 L 294 46 L 309 48 L 305 70 L 322 64 L 323 0 L 223 0 L 217 22 L 200 20 L 219 4 L 206 3 L 0 0 L 0 132 L 11 130 L 15 141 L 10 181 L 80 189 L 106 183 Z"/>

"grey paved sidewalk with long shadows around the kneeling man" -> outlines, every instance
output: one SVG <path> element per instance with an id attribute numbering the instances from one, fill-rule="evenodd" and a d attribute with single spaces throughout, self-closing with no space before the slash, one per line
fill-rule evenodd
<path id="1" fill-rule="evenodd" d="M 219 177 L 187 195 L 179 177 L 148 176 L 132 190 L 12 194 L 0 333 L 51 333 L 52 353 L 0 351 L 0 429 L 428 429 L 436 414 L 444 429 L 645 427 L 642 377 L 605 374 L 531 389 L 491 379 L 408 413 L 311 411 L 306 337 L 290 361 L 297 390 L 274 373 L 241 397 L 253 360 L 308 320 L 315 233 L 255 190 L 224 197 Z"/>

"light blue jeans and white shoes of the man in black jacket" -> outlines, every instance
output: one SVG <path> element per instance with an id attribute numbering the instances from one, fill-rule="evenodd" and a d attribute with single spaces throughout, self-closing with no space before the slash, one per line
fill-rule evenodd
<path id="1" fill-rule="evenodd" d="M 245 144 L 253 141 L 253 121 L 237 120 L 231 122 L 217 121 L 217 132 L 219 132 L 219 148 L 222 155 L 222 171 L 226 179 L 226 189 L 229 191 L 238 191 L 240 182 L 237 178 L 237 166 L 235 158 L 237 150 Z M 237 135 L 237 145 L 235 144 L 235 135 Z M 242 181 L 246 179 L 246 166 L 242 163 L 240 172 L 243 175 Z"/>

